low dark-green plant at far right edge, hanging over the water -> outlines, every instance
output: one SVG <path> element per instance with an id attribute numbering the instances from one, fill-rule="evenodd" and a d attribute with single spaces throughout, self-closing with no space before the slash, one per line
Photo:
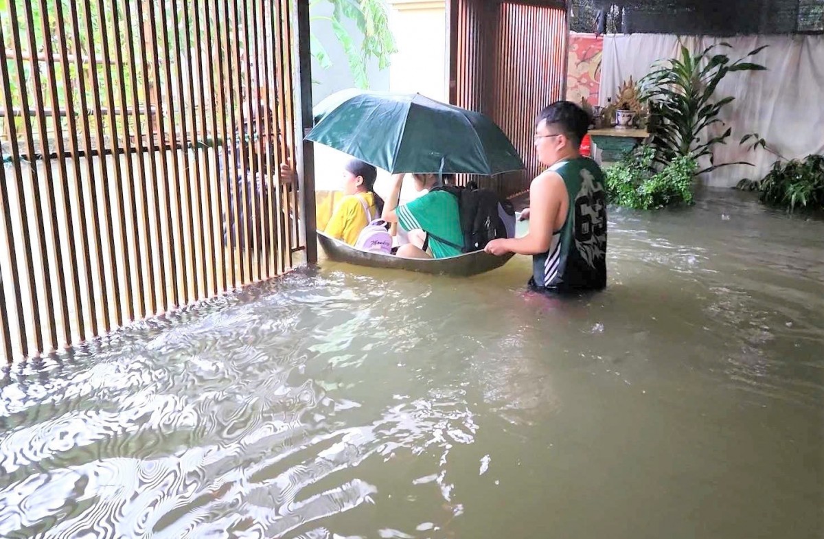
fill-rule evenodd
<path id="1" fill-rule="evenodd" d="M 824 156 L 813 154 L 784 163 L 776 161 L 764 178 L 741 180 L 737 188 L 757 190 L 761 202 L 790 212 L 801 208 L 824 209 Z"/>

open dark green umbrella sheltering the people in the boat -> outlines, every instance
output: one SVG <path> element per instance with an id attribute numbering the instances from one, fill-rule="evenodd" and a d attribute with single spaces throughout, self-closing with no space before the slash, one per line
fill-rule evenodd
<path id="1" fill-rule="evenodd" d="M 525 168 L 503 131 L 480 112 L 420 94 L 344 92 L 316 107 L 322 118 L 307 140 L 392 174 L 493 176 Z"/>

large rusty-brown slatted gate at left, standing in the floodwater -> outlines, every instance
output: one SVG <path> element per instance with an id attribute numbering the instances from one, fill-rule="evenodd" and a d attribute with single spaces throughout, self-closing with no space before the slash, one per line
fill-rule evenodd
<path id="1" fill-rule="evenodd" d="M 0 344 L 47 353 L 294 267 L 288 0 L 8 0 Z"/>

